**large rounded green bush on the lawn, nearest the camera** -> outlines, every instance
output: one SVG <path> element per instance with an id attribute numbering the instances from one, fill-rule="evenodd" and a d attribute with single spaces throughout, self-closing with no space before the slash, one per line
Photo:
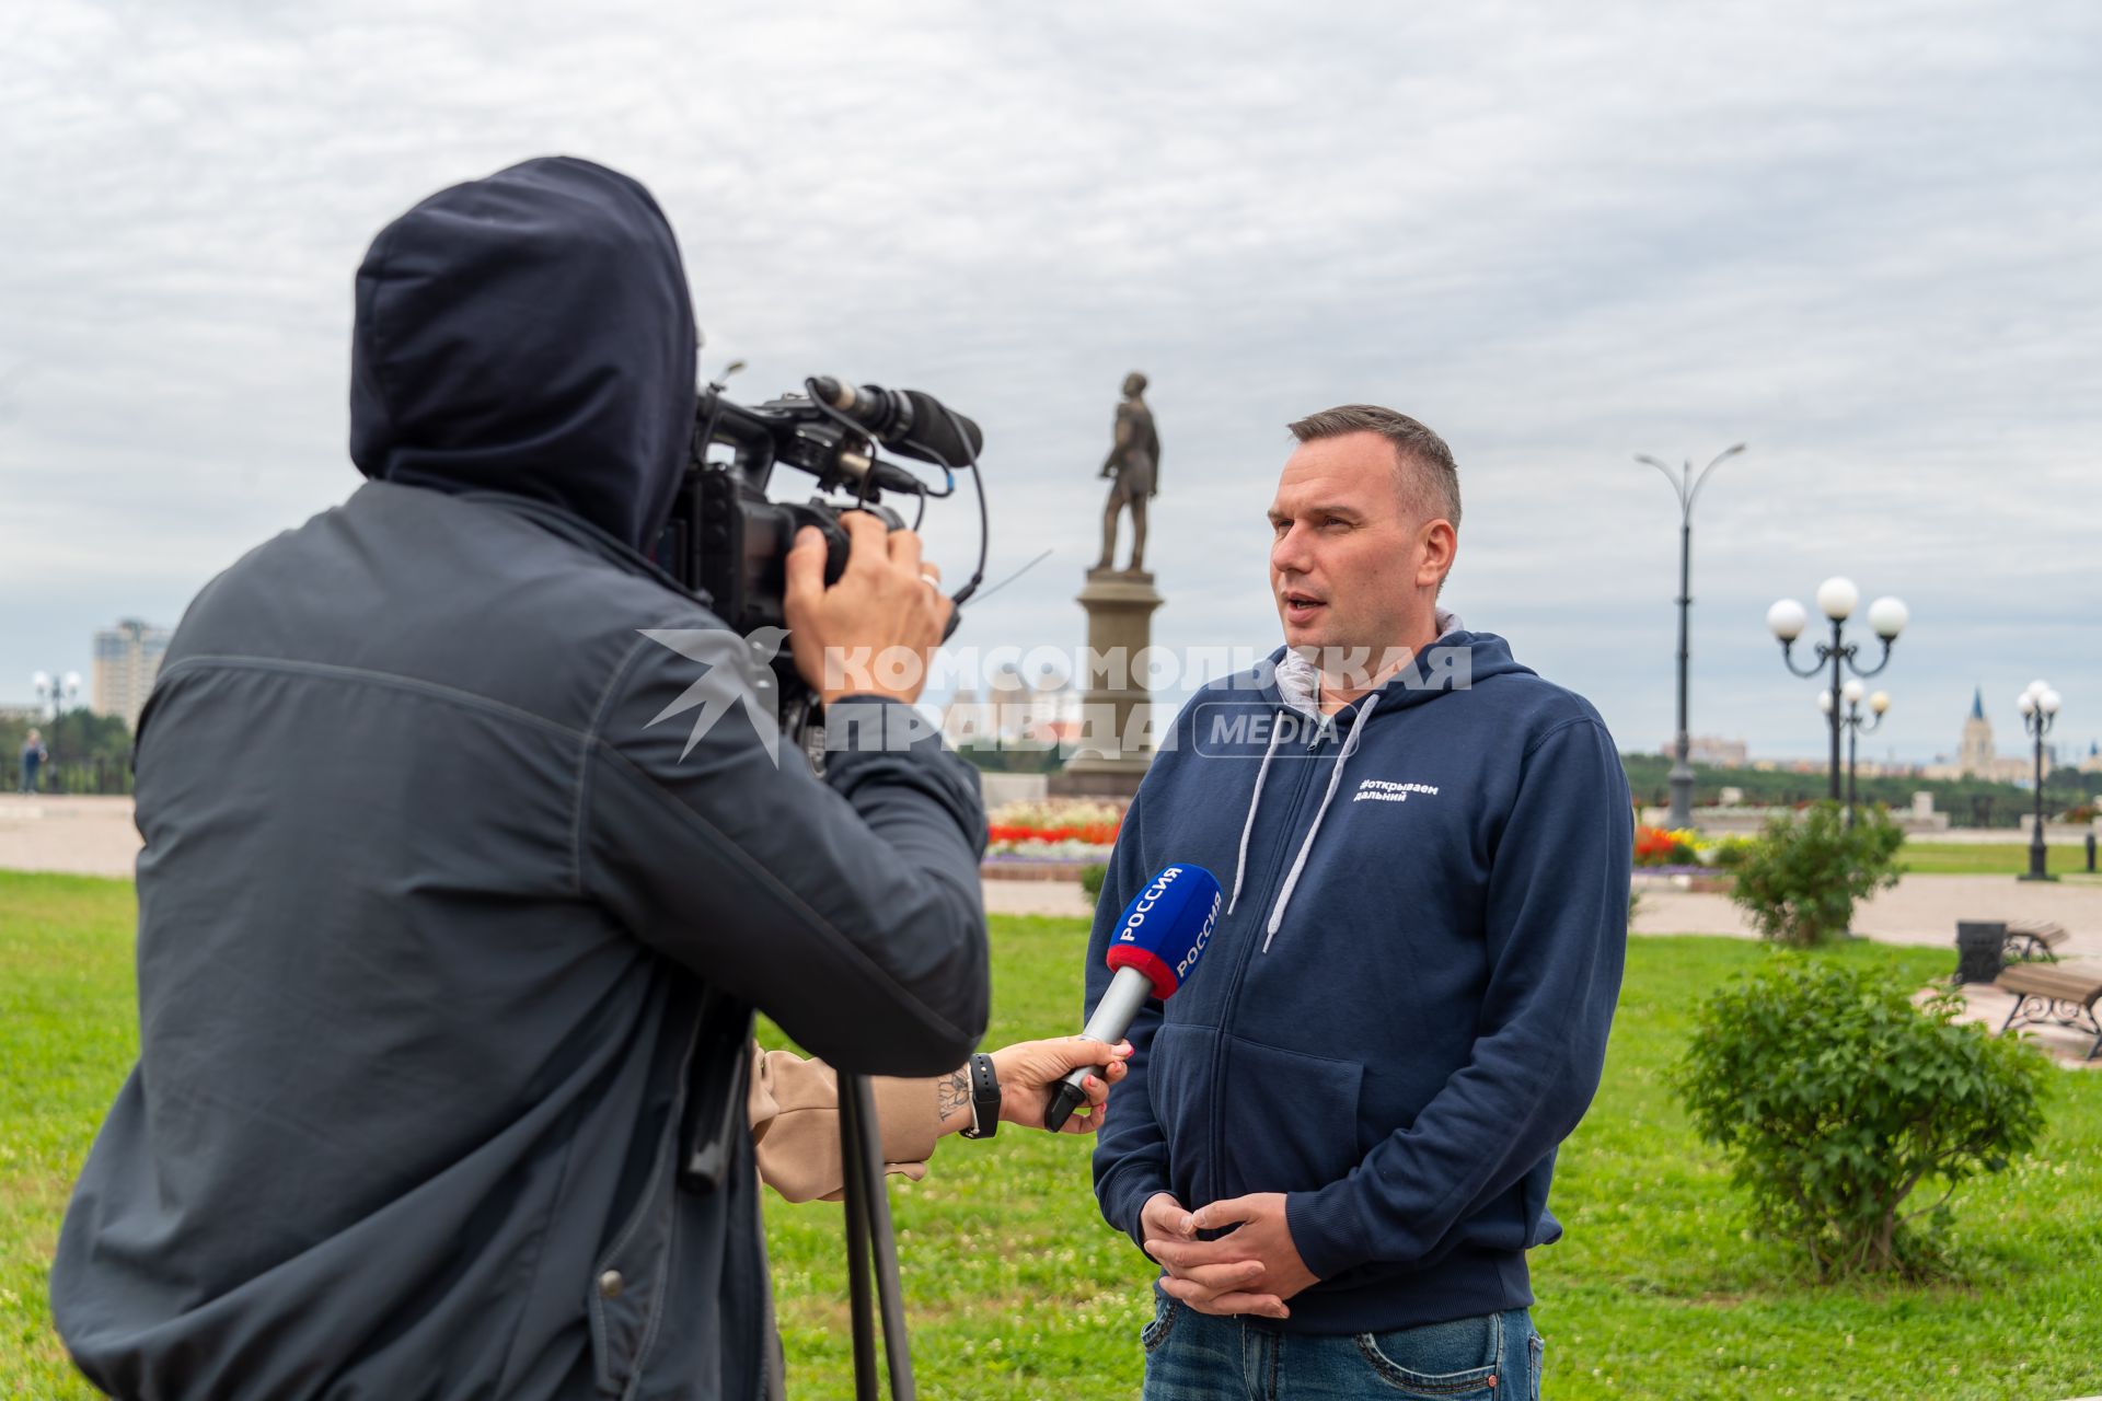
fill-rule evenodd
<path id="1" fill-rule="evenodd" d="M 1951 989 L 1915 1008 L 1902 987 L 1795 958 L 1698 1008 L 1675 1088 L 1759 1227 L 1822 1275 L 1923 1273 L 1955 1189 L 2043 1132 L 2045 1059 L 1961 1010 Z M 1900 1212 L 1923 1183 L 1942 1197 Z"/>

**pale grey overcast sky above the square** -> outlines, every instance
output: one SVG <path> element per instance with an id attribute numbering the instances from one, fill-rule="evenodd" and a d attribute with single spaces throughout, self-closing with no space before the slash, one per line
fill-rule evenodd
<path id="1" fill-rule="evenodd" d="M 433 17 L 433 11 L 448 17 Z M 2102 8 L 19 6 L 0 50 L 0 704 L 347 496 L 351 275 L 540 153 L 677 229 L 736 386 L 940 393 L 986 426 L 959 643 L 1083 641 L 1116 386 L 1152 376 L 1169 647 L 1272 647 L 1284 422 L 1436 426 L 1446 603 L 1671 731 L 1818 754 L 1764 630 L 1831 573 L 1913 626 L 1864 756 L 2001 750 L 2047 676 L 2102 737 Z M 967 502 L 931 513 L 963 578 Z"/>

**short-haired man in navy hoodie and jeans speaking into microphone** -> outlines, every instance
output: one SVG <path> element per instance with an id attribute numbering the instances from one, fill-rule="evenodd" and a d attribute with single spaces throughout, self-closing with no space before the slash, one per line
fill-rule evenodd
<path id="1" fill-rule="evenodd" d="M 1562 1235 L 1619 996 L 1627 779 L 1583 697 L 1438 609 L 1446 443 L 1371 405 L 1293 435 L 1284 647 L 1181 712 L 1095 912 L 1089 1008 L 1152 870 L 1232 872 L 1209 968 L 1131 1027 L 1095 1193 L 1165 1269 L 1150 1401 L 1530 1397 L 1526 1250 Z"/>

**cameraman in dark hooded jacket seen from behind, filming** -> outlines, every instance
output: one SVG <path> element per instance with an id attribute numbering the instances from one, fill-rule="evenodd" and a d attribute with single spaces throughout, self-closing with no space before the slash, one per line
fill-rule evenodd
<path id="1" fill-rule="evenodd" d="M 689 1065 L 704 994 L 862 1073 L 984 1031 L 971 769 L 931 735 L 822 779 L 776 754 L 748 649 L 645 559 L 694 353 L 673 231 L 601 166 L 374 239 L 370 481 L 198 594 L 141 718 L 139 1065 L 50 1275 L 101 1388 L 757 1397 L 753 1145 L 679 1174 L 689 1082 L 742 1069 Z M 948 615 L 914 536 L 845 525 L 837 584 L 816 531 L 788 561 L 811 681 Z M 912 693 L 824 699 L 866 739 Z"/>

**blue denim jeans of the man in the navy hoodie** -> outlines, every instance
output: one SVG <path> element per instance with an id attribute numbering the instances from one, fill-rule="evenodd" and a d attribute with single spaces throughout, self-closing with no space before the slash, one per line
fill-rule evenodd
<path id="1" fill-rule="evenodd" d="M 1146 1401 L 1539 1401 L 1541 1336 L 1524 1309 L 1387 1334 L 1286 1334 L 1158 1290 Z"/>

